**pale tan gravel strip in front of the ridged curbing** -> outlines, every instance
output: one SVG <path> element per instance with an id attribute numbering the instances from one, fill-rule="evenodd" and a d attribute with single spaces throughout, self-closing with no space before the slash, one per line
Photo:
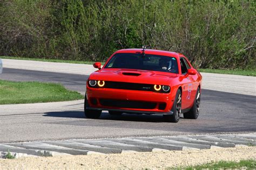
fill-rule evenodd
<path id="1" fill-rule="evenodd" d="M 127 152 L 122 154 L 62 155 L 0 160 L 0 169 L 159 169 L 212 161 L 256 159 L 255 146 L 211 150 Z"/>

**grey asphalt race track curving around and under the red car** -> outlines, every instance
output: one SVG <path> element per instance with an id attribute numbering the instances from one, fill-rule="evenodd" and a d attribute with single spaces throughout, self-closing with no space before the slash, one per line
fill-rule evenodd
<path id="1" fill-rule="evenodd" d="M 0 75 L 2 80 L 58 82 L 82 94 L 87 77 L 8 68 Z M 0 115 L 0 142 L 255 132 L 255 104 L 255 96 L 203 89 L 198 119 L 168 123 L 157 115 L 110 116 L 107 112 L 100 119 L 86 119 L 81 102 L 73 111 Z"/>

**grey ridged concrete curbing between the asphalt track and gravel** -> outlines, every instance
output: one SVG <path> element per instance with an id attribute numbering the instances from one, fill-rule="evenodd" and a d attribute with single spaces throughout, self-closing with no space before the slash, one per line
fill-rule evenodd
<path id="1" fill-rule="evenodd" d="M 227 138 L 227 139 L 226 139 Z M 248 134 L 75 139 L 0 144 L 2 157 L 10 150 L 19 157 L 205 150 L 256 144 L 256 132 Z M 221 142 L 220 142 L 221 141 Z M 249 143 L 249 142 L 251 143 Z"/>

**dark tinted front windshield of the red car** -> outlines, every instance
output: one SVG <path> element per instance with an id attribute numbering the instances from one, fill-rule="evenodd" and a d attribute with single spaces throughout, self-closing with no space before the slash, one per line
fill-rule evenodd
<path id="1" fill-rule="evenodd" d="M 143 56 L 139 53 L 117 53 L 107 62 L 104 68 L 127 68 L 179 73 L 176 58 L 153 54 Z"/>

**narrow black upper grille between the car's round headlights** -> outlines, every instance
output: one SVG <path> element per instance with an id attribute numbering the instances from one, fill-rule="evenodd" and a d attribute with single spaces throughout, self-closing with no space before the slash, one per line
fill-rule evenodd
<path id="1" fill-rule="evenodd" d="M 126 83 L 126 82 L 114 82 L 114 81 L 105 81 L 104 88 L 154 91 L 154 85 L 152 84 Z"/>

